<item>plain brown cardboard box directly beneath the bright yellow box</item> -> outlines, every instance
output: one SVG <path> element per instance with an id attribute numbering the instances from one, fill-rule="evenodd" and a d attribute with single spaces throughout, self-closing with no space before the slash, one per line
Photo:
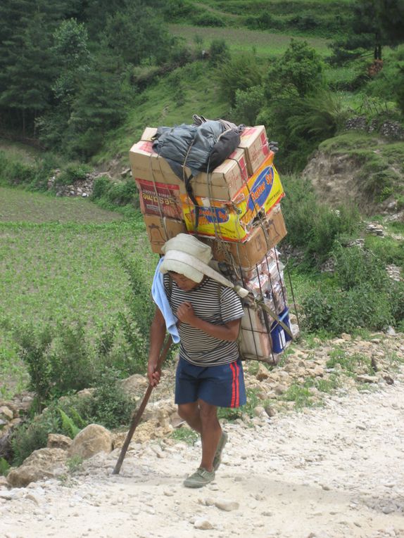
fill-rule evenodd
<path id="1" fill-rule="evenodd" d="M 286 233 L 284 217 L 278 204 L 260 225 L 253 229 L 245 243 L 225 243 L 206 238 L 203 241 L 210 245 L 217 262 L 234 264 L 248 271 L 262 262 L 267 252 L 277 245 Z"/>

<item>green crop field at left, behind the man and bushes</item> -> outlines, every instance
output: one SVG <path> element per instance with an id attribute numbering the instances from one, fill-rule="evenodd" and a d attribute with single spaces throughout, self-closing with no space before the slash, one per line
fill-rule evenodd
<path id="1" fill-rule="evenodd" d="M 1 188 L 0 214 L 0 395 L 6 395 L 25 380 L 11 338 L 16 327 L 80 319 L 91 333 L 109 324 L 125 312 L 129 293 L 118 252 L 141 257 L 150 276 L 156 255 L 141 219 L 122 220 L 87 200 Z"/>

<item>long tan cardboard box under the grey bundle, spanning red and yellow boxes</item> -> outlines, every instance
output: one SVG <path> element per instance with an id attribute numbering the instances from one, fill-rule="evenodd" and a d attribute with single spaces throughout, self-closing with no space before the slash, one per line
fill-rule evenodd
<path id="1" fill-rule="evenodd" d="M 184 181 L 172 171 L 165 158 L 153 151 L 152 138 L 156 131 L 155 127 L 146 127 L 141 135 L 141 140 L 130 149 L 132 176 L 134 179 L 178 185 L 182 194 L 185 195 L 187 191 Z M 191 170 L 185 167 L 184 174 L 189 177 Z M 213 172 L 210 174 L 200 172 L 192 178 L 191 186 L 195 196 L 230 200 L 246 183 L 249 176 L 244 150 L 236 148 L 232 155 L 229 155 L 229 158 L 216 167 Z"/>

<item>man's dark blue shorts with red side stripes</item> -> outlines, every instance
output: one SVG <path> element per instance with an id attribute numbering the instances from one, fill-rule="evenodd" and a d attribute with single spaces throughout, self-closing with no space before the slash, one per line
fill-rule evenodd
<path id="1" fill-rule="evenodd" d="M 203 399 L 219 407 L 246 404 L 241 360 L 217 366 L 195 366 L 179 359 L 175 377 L 175 403 L 190 404 Z"/>

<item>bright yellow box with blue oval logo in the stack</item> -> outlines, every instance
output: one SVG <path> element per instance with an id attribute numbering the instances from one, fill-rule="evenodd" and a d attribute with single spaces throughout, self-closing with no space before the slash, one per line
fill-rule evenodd
<path id="1" fill-rule="evenodd" d="M 181 196 L 184 220 L 190 233 L 219 237 L 224 241 L 244 242 L 248 239 L 253 220 L 267 214 L 284 196 L 277 170 L 270 159 L 265 161 L 229 202 L 196 197 L 196 206 L 188 196 Z"/>

